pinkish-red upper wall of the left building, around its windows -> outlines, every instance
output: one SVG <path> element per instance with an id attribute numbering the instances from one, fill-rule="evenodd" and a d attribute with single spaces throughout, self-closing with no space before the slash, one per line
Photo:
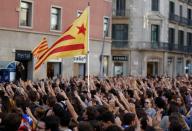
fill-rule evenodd
<path id="1" fill-rule="evenodd" d="M 103 17 L 111 16 L 112 3 L 105 0 L 33 0 L 33 28 L 37 32 L 50 32 L 51 5 L 62 7 L 62 32 L 77 17 L 77 10 L 84 10 L 88 1 L 91 5 L 90 36 L 101 39 Z M 1 0 L 0 27 L 19 29 L 20 0 Z M 23 29 L 23 28 L 22 28 Z"/>

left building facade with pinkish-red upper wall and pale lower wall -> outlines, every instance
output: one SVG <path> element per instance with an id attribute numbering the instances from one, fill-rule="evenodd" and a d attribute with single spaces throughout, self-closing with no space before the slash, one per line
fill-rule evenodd
<path id="1" fill-rule="evenodd" d="M 0 4 L 0 69 L 11 61 L 25 67 L 25 79 L 86 75 L 87 56 L 54 59 L 34 72 L 31 51 L 43 37 L 49 47 L 90 3 L 90 74 L 111 74 L 110 0 L 2 0 Z M 104 39 L 104 34 L 106 37 Z M 103 50 L 103 51 L 102 51 Z M 101 57 L 103 58 L 101 61 Z M 103 64 L 101 64 L 103 62 Z M 102 69 L 100 68 L 102 66 Z"/>

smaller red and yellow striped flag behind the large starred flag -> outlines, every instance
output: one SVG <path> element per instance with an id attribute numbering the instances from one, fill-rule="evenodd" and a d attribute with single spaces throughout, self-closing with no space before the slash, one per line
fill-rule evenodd
<path id="1" fill-rule="evenodd" d="M 43 38 L 42 41 L 32 51 L 33 57 L 39 59 L 43 53 L 48 50 L 47 39 Z"/>

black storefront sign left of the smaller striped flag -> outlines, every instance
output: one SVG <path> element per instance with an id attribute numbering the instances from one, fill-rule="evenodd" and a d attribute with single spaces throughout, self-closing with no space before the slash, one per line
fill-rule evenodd
<path id="1" fill-rule="evenodd" d="M 29 61 L 32 59 L 31 51 L 16 50 L 15 60 L 16 61 Z"/>

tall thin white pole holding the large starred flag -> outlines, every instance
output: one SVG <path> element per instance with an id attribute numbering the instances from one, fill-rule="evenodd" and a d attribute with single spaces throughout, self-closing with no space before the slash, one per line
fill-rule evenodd
<path id="1" fill-rule="evenodd" d="M 90 40 L 90 36 L 89 36 L 89 33 L 90 33 L 90 3 L 88 2 L 88 42 L 87 42 L 87 49 L 88 49 L 88 53 L 87 53 L 87 75 L 88 75 L 88 77 L 87 77 L 87 84 L 88 84 L 88 92 L 90 92 L 90 90 L 89 90 L 89 88 L 90 88 L 90 76 L 89 76 L 89 74 L 90 74 L 90 70 L 89 70 L 89 54 L 90 54 L 90 49 L 89 49 L 89 44 L 90 44 L 90 42 L 89 42 L 89 40 Z"/>

